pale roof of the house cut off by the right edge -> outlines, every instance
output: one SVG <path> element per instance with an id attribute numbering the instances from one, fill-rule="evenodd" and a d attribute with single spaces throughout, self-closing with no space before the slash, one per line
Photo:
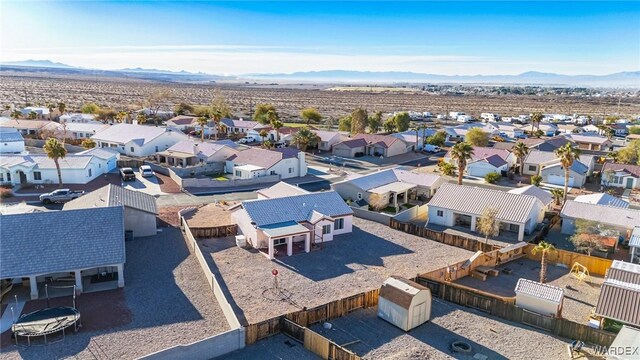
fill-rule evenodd
<path id="1" fill-rule="evenodd" d="M 597 221 L 602 224 L 622 226 L 629 229 L 640 224 L 640 210 L 587 204 L 573 200 L 568 200 L 564 204 L 560 215 L 562 217 Z"/>

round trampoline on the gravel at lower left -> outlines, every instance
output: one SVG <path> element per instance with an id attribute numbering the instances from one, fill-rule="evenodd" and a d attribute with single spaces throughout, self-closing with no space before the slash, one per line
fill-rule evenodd
<path id="1" fill-rule="evenodd" d="M 76 308 L 70 306 L 46 308 L 21 316 L 11 326 L 11 331 L 15 336 L 16 345 L 19 337 L 26 337 L 28 344 L 31 345 L 31 338 L 40 336 L 44 337 L 46 344 L 47 335 L 62 332 L 64 339 L 65 329 L 72 325 L 74 331 L 77 331 L 78 320 L 80 320 L 80 312 Z"/>

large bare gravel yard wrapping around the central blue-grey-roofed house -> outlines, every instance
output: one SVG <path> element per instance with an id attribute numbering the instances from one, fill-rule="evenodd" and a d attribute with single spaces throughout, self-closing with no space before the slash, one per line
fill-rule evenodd
<path id="1" fill-rule="evenodd" d="M 255 249 L 238 248 L 233 239 L 199 243 L 249 323 L 378 288 L 391 275 L 412 278 L 473 255 L 368 220 L 354 218 L 353 225 L 353 233 L 336 236 L 322 249 L 275 261 Z M 281 289 L 276 294 L 274 268 Z"/>

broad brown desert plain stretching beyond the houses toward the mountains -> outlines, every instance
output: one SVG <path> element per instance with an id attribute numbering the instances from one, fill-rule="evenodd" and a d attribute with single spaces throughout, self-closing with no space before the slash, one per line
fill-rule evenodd
<path id="1" fill-rule="evenodd" d="M 109 79 L 102 77 L 73 78 L 65 76 L 0 76 L 2 104 L 33 104 L 64 102 L 67 109 L 78 109 L 83 103 L 117 109 L 136 109 L 154 90 L 169 89 L 171 103 L 209 104 L 214 96 L 212 85 L 161 84 L 149 81 Z M 479 116 L 481 112 L 502 115 L 548 113 L 602 116 L 619 112 L 631 116 L 640 113 L 639 98 L 583 97 L 583 96 L 515 96 L 515 95 L 434 95 L 425 92 L 399 93 L 370 91 L 325 91 L 326 86 L 284 88 L 282 86 L 248 87 L 221 85 L 222 94 L 237 116 L 247 116 L 259 103 L 272 103 L 284 119 L 297 118 L 300 109 L 314 106 L 326 117 L 340 118 L 362 106 L 369 111 L 393 112 L 402 110 L 465 111 Z M 364 89 L 363 89 L 364 90 Z M 25 96 L 27 99 L 25 99 Z M 619 104 L 619 105 L 618 105 Z"/>

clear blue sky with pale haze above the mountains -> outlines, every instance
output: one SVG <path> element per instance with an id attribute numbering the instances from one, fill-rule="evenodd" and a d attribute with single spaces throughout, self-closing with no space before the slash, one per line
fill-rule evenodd
<path id="1" fill-rule="evenodd" d="M 0 60 L 216 74 L 640 69 L 640 2 L 0 2 Z"/>

